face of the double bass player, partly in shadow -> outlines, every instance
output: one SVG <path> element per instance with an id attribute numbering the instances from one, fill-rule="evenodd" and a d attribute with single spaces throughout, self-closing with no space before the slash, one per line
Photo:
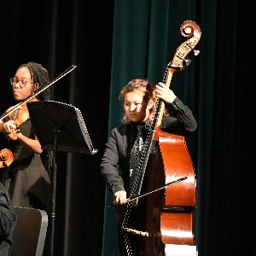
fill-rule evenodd
<path id="1" fill-rule="evenodd" d="M 124 98 L 125 115 L 132 122 L 142 123 L 149 117 L 151 102 L 143 101 L 143 92 L 131 91 Z"/>

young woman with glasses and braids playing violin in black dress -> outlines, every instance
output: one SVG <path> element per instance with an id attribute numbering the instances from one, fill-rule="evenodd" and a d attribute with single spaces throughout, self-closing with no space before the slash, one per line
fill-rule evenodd
<path id="1" fill-rule="evenodd" d="M 10 79 L 16 102 L 23 102 L 49 84 L 47 70 L 38 63 L 22 64 Z M 49 100 L 49 90 L 32 98 Z M 6 113 L 15 106 L 9 108 Z M 14 207 L 32 207 L 50 212 L 51 184 L 49 152 L 43 151 L 32 131 L 26 103 L 0 120 L 0 133 L 6 138 L 6 148 L 14 154 L 14 161 L 3 175 Z"/>

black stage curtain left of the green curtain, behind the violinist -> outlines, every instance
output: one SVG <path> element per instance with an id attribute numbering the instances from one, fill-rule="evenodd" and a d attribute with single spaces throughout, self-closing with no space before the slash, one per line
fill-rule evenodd
<path id="1" fill-rule="evenodd" d="M 50 80 L 55 102 L 83 114 L 94 155 L 57 154 L 55 255 L 101 255 L 105 183 L 99 165 L 108 137 L 113 2 L 7 1 L 0 3 L 1 112 L 14 104 L 9 78 L 35 61 Z M 1 146 L 1 145 L 0 145 Z"/>

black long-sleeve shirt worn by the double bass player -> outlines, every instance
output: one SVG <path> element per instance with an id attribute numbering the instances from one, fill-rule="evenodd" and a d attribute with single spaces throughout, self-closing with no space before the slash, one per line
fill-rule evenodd
<path id="1" fill-rule="evenodd" d="M 188 136 L 197 128 L 195 118 L 189 109 L 177 97 L 171 104 L 176 117 L 164 116 L 161 122 L 163 131 Z M 101 172 L 108 189 L 113 193 L 127 190 L 130 175 L 130 153 L 137 136 L 137 124 L 123 124 L 114 128 L 108 137 L 107 147 L 102 157 Z M 150 124 L 146 122 L 143 135 Z"/>

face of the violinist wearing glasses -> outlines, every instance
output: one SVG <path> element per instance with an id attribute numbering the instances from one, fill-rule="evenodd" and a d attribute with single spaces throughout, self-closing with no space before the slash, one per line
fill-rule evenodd
<path id="1" fill-rule="evenodd" d="M 23 88 L 20 88 L 19 83 L 13 84 L 14 97 L 16 101 L 23 101 L 33 94 L 32 78 L 27 67 L 21 67 L 18 69 L 15 73 L 15 79 L 27 82 Z"/>

